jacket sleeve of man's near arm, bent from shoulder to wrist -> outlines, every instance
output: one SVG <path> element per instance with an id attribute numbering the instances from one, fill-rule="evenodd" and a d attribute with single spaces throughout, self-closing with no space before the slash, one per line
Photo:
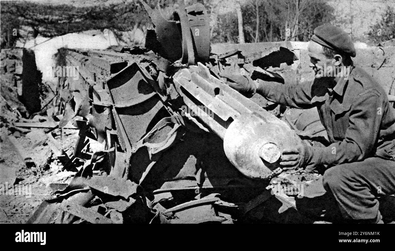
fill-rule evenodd
<path id="1" fill-rule="evenodd" d="M 369 89 L 359 94 L 353 102 L 349 127 L 343 141 L 328 147 L 312 147 L 311 166 L 318 164 L 339 165 L 364 160 L 374 149 L 380 132 L 385 97 Z"/>

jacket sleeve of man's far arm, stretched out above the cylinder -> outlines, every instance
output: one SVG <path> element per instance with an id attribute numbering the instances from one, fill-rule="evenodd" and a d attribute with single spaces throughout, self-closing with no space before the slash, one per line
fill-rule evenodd
<path id="1" fill-rule="evenodd" d="M 311 102 L 313 83 L 282 84 L 258 80 L 256 92 L 272 102 L 307 109 L 316 106 Z"/>

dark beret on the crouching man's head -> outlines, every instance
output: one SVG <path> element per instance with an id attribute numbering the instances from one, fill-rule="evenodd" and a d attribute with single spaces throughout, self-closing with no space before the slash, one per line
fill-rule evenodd
<path id="1" fill-rule="evenodd" d="M 323 24 L 315 28 L 311 40 L 329 49 L 348 54 L 353 58 L 357 54 L 350 36 L 342 29 L 330 24 Z"/>

